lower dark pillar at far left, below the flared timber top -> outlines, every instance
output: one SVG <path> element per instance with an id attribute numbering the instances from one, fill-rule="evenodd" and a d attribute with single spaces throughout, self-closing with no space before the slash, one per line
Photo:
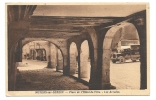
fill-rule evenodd
<path id="1" fill-rule="evenodd" d="M 25 34 L 26 32 L 27 31 L 22 29 L 21 30 L 8 29 L 8 90 L 9 91 L 15 90 L 16 70 L 17 70 L 16 62 L 22 61 L 21 33 Z"/>

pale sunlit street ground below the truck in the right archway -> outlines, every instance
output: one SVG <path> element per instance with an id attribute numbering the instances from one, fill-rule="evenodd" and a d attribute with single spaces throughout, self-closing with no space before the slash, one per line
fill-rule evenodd
<path id="1" fill-rule="evenodd" d="M 117 89 L 140 88 L 140 62 L 126 61 L 110 64 L 110 82 Z"/>

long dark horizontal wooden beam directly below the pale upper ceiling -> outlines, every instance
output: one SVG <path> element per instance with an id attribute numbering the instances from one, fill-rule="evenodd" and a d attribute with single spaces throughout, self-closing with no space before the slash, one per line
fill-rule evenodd
<path id="1" fill-rule="evenodd" d="M 103 17 L 54 17 L 54 16 L 32 16 L 31 26 L 49 25 L 49 26 L 98 26 L 103 23 L 113 22 L 113 18 Z"/>

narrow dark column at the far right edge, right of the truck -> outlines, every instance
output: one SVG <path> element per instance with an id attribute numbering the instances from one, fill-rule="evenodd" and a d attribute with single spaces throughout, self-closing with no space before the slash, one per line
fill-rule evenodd
<path id="1" fill-rule="evenodd" d="M 147 89 L 147 35 L 146 35 L 146 13 L 136 19 L 135 25 L 140 38 L 140 89 Z"/>

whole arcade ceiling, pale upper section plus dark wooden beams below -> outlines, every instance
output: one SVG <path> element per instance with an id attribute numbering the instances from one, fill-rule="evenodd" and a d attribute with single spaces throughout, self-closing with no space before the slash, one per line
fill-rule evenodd
<path id="1" fill-rule="evenodd" d="M 85 27 L 110 26 L 144 9 L 145 5 L 38 5 L 27 37 L 69 39 L 83 34 Z"/>

